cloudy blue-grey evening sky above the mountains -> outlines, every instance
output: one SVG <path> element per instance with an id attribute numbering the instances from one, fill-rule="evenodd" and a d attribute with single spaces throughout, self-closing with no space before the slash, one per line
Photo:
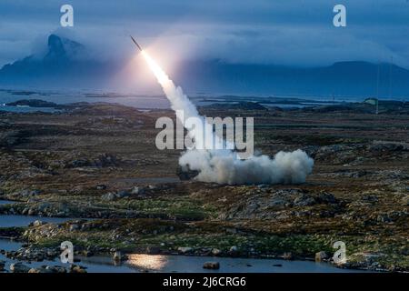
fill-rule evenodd
<path id="1" fill-rule="evenodd" d="M 60 7 L 74 6 L 73 28 Z M 334 27 L 333 8 L 347 9 Z M 46 36 L 68 35 L 105 57 L 134 49 L 128 35 L 162 61 L 330 65 L 388 61 L 409 68 L 407 0 L 0 1 L 0 66 L 36 52 Z"/>

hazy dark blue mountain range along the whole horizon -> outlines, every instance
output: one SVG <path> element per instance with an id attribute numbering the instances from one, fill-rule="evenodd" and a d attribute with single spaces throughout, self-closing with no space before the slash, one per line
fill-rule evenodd
<path id="1" fill-rule="evenodd" d="M 98 88 L 125 64 L 93 59 L 85 45 L 50 35 L 44 55 L 30 55 L 0 69 L 0 85 L 73 85 Z M 190 61 L 172 75 L 190 92 L 271 95 L 409 96 L 409 71 L 361 61 L 321 67 Z"/>

